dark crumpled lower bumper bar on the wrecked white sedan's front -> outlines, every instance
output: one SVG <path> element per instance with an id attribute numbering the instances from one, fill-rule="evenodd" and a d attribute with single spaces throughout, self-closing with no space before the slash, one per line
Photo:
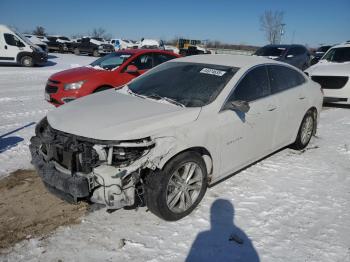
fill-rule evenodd
<path id="1" fill-rule="evenodd" d="M 44 160 L 39 153 L 35 139 L 32 139 L 31 142 L 29 148 L 32 164 L 50 192 L 70 203 L 76 203 L 78 199 L 90 196 L 89 182 L 86 177 L 58 171 L 53 163 Z"/>

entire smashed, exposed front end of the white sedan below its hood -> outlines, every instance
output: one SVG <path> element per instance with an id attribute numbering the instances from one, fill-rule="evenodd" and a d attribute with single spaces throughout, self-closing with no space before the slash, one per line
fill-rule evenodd
<path id="1" fill-rule="evenodd" d="M 55 195 L 69 202 L 89 199 L 119 209 L 142 203 L 143 177 L 157 168 L 155 145 L 150 137 L 106 141 L 67 134 L 50 127 L 44 118 L 36 127 L 30 151 L 32 164 Z"/>

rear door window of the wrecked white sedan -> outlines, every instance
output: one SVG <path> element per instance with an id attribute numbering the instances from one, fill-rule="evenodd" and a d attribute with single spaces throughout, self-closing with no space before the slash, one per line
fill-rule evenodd
<path id="1" fill-rule="evenodd" d="M 267 68 L 273 94 L 302 85 L 306 81 L 301 73 L 292 68 L 280 65 L 269 65 Z"/>

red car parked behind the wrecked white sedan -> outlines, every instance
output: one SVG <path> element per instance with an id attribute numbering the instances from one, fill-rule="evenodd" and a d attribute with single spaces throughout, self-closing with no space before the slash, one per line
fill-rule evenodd
<path id="1" fill-rule="evenodd" d="M 115 52 L 88 66 L 68 69 L 47 81 L 45 99 L 55 106 L 94 92 L 122 86 L 148 69 L 179 55 L 162 50 L 130 49 Z"/>

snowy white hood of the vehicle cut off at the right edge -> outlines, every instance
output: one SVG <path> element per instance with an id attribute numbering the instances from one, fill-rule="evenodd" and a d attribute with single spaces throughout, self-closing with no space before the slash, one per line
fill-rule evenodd
<path id="1" fill-rule="evenodd" d="M 321 60 L 317 64 L 305 70 L 305 72 L 309 73 L 311 76 L 349 76 L 350 62 L 333 63 Z"/>

